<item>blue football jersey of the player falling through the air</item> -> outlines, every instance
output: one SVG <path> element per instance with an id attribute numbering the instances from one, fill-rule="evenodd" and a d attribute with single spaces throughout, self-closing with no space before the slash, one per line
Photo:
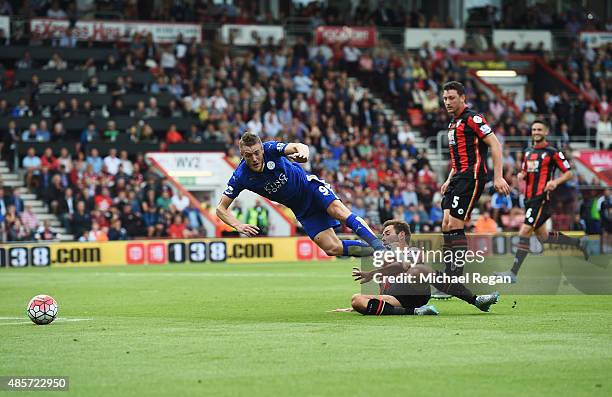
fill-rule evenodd
<path id="1" fill-rule="evenodd" d="M 308 183 L 318 178 L 306 174 L 299 164 L 287 159 L 286 146 L 282 142 L 264 142 L 263 172 L 251 170 L 242 160 L 223 194 L 236 198 L 241 191 L 250 190 L 289 207 L 297 217 L 303 216 L 312 202 Z"/>

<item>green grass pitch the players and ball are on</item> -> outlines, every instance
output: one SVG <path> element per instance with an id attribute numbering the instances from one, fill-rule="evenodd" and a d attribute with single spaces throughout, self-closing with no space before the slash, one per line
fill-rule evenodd
<path id="1" fill-rule="evenodd" d="M 0 375 L 68 375 L 78 396 L 610 395 L 610 296 L 331 313 L 354 264 L 0 269 Z M 48 326 L 26 323 L 39 293 Z"/>

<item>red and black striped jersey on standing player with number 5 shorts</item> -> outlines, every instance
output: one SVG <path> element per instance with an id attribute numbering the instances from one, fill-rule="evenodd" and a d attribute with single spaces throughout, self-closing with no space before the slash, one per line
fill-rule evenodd
<path id="1" fill-rule="evenodd" d="M 472 109 L 466 107 L 458 117 L 453 117 L 448 125 L 453 178 L 486 178 L 489 146 L 483 138 L 492 133 L 485 118 Z"/>

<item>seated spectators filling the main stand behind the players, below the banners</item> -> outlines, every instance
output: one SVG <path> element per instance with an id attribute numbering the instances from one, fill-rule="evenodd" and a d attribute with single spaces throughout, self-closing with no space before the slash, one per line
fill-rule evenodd
<path id="1" fill-rule="evenodd" d="M 43 45 L 70 48 L 77 43 L 71 40 L 68 31 Z M 136 34 L 129 43 L 115 43 L 114 48 L 108 48 L 103 61 L 75 62 L 55 53 L 41 62 L 26 52 L 12 65 L 4 62 L 7 69 L 35 73 L 29 81 L 19 81 L 10 74 L 3 81 L 5 89 L 21 89 L 25 95 L 16 103 L 0 101 L 0 116 L 9 120 L 2 127 L 6 131 L 2 155 L 3 159 L 10 159 L 15 143 L 77 142 L 66 145 L 59 153 L 50 148 L 37 153 L 30 148 L 20 166 L 27 189 L 37 193 L 79 240 L 210 234 L 212 231 L 203 228 L 200 209 L 163 178 L 149 172 L 142 154 L 130 156 L 128 151 L 121 150 L 119 143 L 158 143 L 163 148 L 177 142 L 217 141 L 226 145 L 228 157 L 236 161 L 237 141 L 247 129 L 264 140 L 299 140 L 308 144 L 311 161 L 306 164 L 307 170 L 331 182 L 352 211 L 371 225 L 377 227 L 385 220 L 402 218 L 417 232 L 439 230 L 442 219 L 439 185 L 445 175 L 432 171 L 426 151 L 418 151 L 414 141 L 417 130 L 434 136 L 448 124 L 448 116 L 440 105 L 443 81 L 465 81 L 469 102 L 486 113 L 502 140 L 517 136 L 525 137 L 526 142 L 527 126 L 541 113 L 557 120 L 553 131 L 564 137 L 563 145 L 568 144 L 575 126 L 593 125 L 586 123 L 589 110 L 584 110 L 581 119 L 580 113 L 576 113 L 580 110 L 575 103 L 567 103 L 569 99 L 564 93 L 550 93 L 553 99 L 546 102 L 546 109 L 538 109 L 536 102 L 527 97 L 519 104 L 521 113 L 515 114 L 499 99 L 488 98 L 479 91 L 454 62 L 462 51 L 466 49 L 455 46 L 429 49 L 424 45 L 415 52 L 398 53 L 385 43 L 371 51 L 360 51 L 351 46 L 308 44 L 298 37 L 292 46 L 284 41 L 258 43 L 235 55 L 218 42 L 208 51 L 182 39 L 172 45 L 161 45 L 150 36 Z M 590 56 L 585 51 L 577 54 L 587 59 Z M 607 71 L 608 53 L 595 57 L 600 68 Z M 582 64 L 580 58 L 575 62 Z M 597 75 L 596 66 L 590 63 L 587 66 L 578 73 L 584 81 L 587 71 Z M 66 93 L 74 87 L 61 76 L 41 81 L 36 71 L 75 69 L 89 74 L 78 87 L 79 92 L 92 97 L 110 93 L 112 103 L 100 106 L 87 97 L 55 104 L 40 100 L 42 93 Z M 101 83 L 98 76 L 104 71 L 125 75 Z M 133 72 L 151 78 L 144 83 L 136 81 Z M 410 109 L 406 123 L 398 127 L 397 116 L 386 118 L 380 105 L 367 90 L 349 79 L 350 75 L 380 91 L 388 103 L 402 110 L 398 114 Z M 378 84 L 380 81 L 384 83 Z M 585 84 L 583 87 L 587 88 Z M 602 106 L 607 104 L 605 91 L 597 88 L 594 91 Z M 124 95 L 142 92 L 147 93 L 146 100 L 129 106 L 123 103 Z M 171 99 L 162 101 L 162 95 Z M 104 127 L 90 122 L 76 133 L 67 130 L 64 125 L 77 116 L 102 118 Z M 119 128 L 118 120 L 123 116 L 133 124 Z M 605 121 L 607 111 L 600 117 Z M 40 121 L 20 130 L 16 120 L 24 118 Z M 158 118 L 171 121 L 167 129 L 153 126 Z M 184 130 L 178 128 L 181 119 L 191 120 Z M 92 147 L 99 141 L 117 145 L 108 153 L 100 153 Z M 515 146 L 522 147 L 523 144 Z M 508 149 L 504 152 L 504 164 L 507 178 L 512 179 L 521 162 L 521 152 Z M 473 225 L 476 231 L 518 228 L 523 216 L 522 199 L 519 185 L 514 182 L 510 197 L 483 196 L 480 203 L 483 216 Z M 586 183 L 575 178 L 563 187 L 562 197 L 573 200 L 575 209 L 581 208 L 580 218 L 563 220 L 568 228 L 596 228 L 596 211 L 591 211 L 589 203 L 576 193 L 578 186 Z M 29 215 L 23 219 L 26 208 L 13 204 L 18 195 L 17 190 L 7 191 L 10 197 L 3 200 L 6 205 L 0 206 L 5 234 L 11 239 L 52 235 L 44 229 L 34 232 L 40 222 L 28 219 Z M 590 205 L 596 202 L 592 200 Z"/>

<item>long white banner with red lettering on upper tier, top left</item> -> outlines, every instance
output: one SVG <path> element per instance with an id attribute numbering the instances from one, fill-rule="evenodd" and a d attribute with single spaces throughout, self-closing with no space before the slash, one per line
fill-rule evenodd
<path id="1" fill-rule="evenodd" d="M 30 32 L 44 38 L 57 37 L 70 25 L 67 20 L 34 18 Z M 173 43 L 180 34 L 185 43 L 195 39 L 202 42 L 202 28 L 195 23 L 162 23 L 139 21 L 77 21 L 73 34 L 78 40 L 130 41 L 134 33 L 153 34 L 156 43 Z"/>

